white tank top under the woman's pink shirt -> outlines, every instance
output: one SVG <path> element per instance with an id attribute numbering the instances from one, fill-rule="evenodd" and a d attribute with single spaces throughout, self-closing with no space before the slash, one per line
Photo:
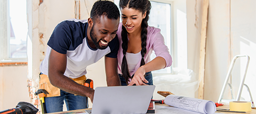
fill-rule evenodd
<path id="1" fill-rule="evenodd" d="M 129 72 L 133 72 L 135 69 L 135 66 L 140 63 L 141 60 L 141 54 L 140 52 L 138 52 L 137 54 L 133 54 L 130 52 L 126 52 L 126 60 L 127 60 L 127 65 L 128 65 L 128 69 Z"/>

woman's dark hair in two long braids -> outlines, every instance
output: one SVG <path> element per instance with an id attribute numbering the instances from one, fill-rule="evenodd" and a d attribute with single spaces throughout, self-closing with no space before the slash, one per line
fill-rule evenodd
<path id="1" fill-rule="evenodd" d="M 151 3 L 148 0 L 120 0 L 119 2 L 120 8 L 133 8 L 134 10 L 138 10 L 144 14 L 146 12 L 146 17 L 142 19 L 141 22 L 141 62 L 140 66 L 145 65 L 144 56 L 147 52 L 146 46 L 147 46 L 147 27 L 148 27 L 148 19 L 149 19 L 149 13 L 151 9 Z M 127 60 L 126 60 L 126 51 L 128 47 L 128 38 L 127 38 L 127 31 L 124 26 L 122 26 L 122 48 L 123 48 L 123 60 L 122 60 L 122 74 L 125 78 L 126 84 L 128 84 L 129 78 L 132 78 L 128 69 Z"/>

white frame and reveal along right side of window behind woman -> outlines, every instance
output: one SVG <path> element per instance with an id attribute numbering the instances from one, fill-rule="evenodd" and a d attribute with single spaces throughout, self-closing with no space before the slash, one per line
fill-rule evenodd
<path id="1" fill-rule="evenodd" d="M 153 2 L 171 4 L 171 56 L 172 73 L 177 69 L 188 68 L 188 36 L 186 0 L 149 0 Z M 160 74 L 161 75 L 161 74 Z"/>

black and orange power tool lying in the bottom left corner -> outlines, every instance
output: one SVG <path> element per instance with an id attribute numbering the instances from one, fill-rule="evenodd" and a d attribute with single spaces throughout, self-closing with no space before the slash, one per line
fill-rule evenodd
<path id="1" fill-rule="evenodd" d="M 35 114 L 37 111 L 38 109 L 35 108 L 31 103 L 19 102 L 16 108 L 0 111 L 0 114 Z"/>

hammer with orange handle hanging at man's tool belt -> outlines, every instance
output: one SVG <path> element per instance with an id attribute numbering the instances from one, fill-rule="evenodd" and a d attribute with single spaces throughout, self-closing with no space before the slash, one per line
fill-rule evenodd
<path id="1" fill-rule="evenodd" d="M 49 94 L 49 93 L 44 89 L 39 89 L 35 92 L 35 95 L 39 95 L 39 99 L 41 101 L 41 108 L 42 108 L 43 113 L 47 113 L 46 108 L 45 108 L 45 103 L 44 103 L 44 97 L 46 96 L 46 94 Z"/>

